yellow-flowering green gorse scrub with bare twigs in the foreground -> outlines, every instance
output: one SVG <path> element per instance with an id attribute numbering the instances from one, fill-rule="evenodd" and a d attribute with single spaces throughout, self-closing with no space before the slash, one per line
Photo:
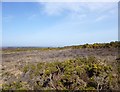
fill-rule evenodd
<path id="1" fill-rule="evenodd" d="M 64 62 L 25 65 L 17 81 L 3 85 L 3 90 L 114 90 L 118 76 L 113 66 L 95 57 Z"/>

